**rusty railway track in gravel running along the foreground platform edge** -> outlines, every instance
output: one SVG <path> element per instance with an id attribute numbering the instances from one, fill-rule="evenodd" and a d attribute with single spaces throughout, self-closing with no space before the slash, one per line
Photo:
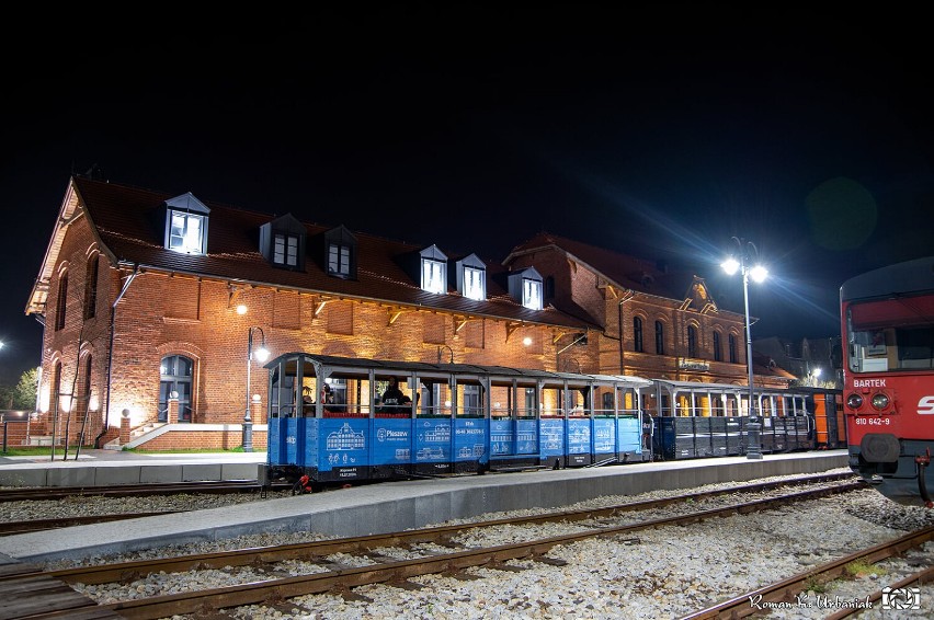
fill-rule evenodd
<path id="1" fill-rule="evenodd" d="M 841 478 L 844 482 L 839 482 Z M 573 544 L 594 538 L 631 540 L 634 543 L 638 543 L 636 535 L 646 529 L 679 527 L 736 514 L 781 508 L 787 506 L 789 502 L 813 500 L 865 489 L 864 483 L 853 481 L 852 475 L 806 477 L 806 480 L 818 484 L 821 482 L 832 483 L 833 480 L 829 479 L 838 479 L 838 483 L 710 509 L 688 509 L 681 515 L 649 518 L 639 523 L 623 525 L 614 524 L 613 519 L 634 510 L 665 508 L 679 503 L 690 508 L 692 505 L 702 503 L 705 498 L 714 497 L 722 492 L 691 494 L 593 510 L 550 513 L 521 519 L 497 519 L 388 535 L 46 571 L 42 575 L 69 584 L 82 584 L 87 587 L 94 584 L 135 583 L 135 579 L 145 581 L 145 575 L 153 573 L 187 573 L 189 578 L 194 578 L 191 575 L 196 571 L 224 569 L 225 572 L 236 573 L 243 570 L 244 573 L 241 578 L 246 583 L 167 596 L 106 602 L 96 608 L 99 611 L 117 613 L 125 618 L 203 615 L 206 609 L 218 610 L 244 605 L 262 605 L 270 601 L 275 605 L 275 601 L 309 594 L 337 592 L 351 596 L 352 588 L 367 584 L 396 584 L 403 587 L 417 587 L 409 579 L 428 574 L 451 574 L 466 577 L 467 570 L 477 566 L 515 570 L 509 563 L 516 560 L 560 565 L 562 564 L 561 560 L 548 555 L 548 552 L 558 546 Z M 728 492 L 760 492 L 768 487 L 774 490 L 774 487 L 782 485 L 787 484 L 744 485 Z M 492 547 L 465 544 L 463 541 L 465 532 L 468 531 L 493 527 L 527 527 L 555 521 L 577 521 L 579 527 L 571 533 L 546 538 L 535 539 L 522 535 L 519 537 L 522 539 L 520 541 Z M 399 548 L 411 550 L 417 556 L 398 559 L 391 555 L 391 551 L 389 553 L 384 551 Z M 365 556 L 365 562 L 362 565 L 354 565 L 357 560 L 353 559 L 362 556 Z M 296 566 L 301 566 L 301 569 Z M 293 574 L 295 572 L 300 574 Z M 54 617 L 56 616 L 34 616 L 34 618 Z"/>

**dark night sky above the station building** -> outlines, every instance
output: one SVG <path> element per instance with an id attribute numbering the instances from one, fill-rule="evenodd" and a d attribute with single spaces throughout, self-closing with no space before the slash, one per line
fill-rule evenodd
<path id="1" fill-rule="evenodd" d="M 92 165 L 488 260 L 546 230 L 684 265 L 742 311 L 719 268 L 738 236 L 773 275 L 753 337 L 836 334 L 844 279 L 934 252 L 930 35 L 736 7 L 59 18 L 4 48 L 0 381 L 39 361 L 24 309 Z"/>

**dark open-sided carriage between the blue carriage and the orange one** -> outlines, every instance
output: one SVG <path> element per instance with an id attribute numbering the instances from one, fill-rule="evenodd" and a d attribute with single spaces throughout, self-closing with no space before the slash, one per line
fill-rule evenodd
<path id="1" fill-rule="evenodd" d="M 654 422 L 657 458 L 693 459 L 744 455 L 749 447 L 749 388 L 656 379 L 642 409 Z M 761 423 L 760 450 L 786 452 L 815 448 L 815 415 L 808 393 L 753 388 Z M 811 395 L 812 398 L 812 395 Z"/>

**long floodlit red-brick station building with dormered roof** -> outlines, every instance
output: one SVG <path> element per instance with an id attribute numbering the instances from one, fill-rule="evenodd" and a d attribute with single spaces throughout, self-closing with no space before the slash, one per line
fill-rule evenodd
<path id="1" fill-rule="evenodd" d="M 236 447 L 258 394 L 262 448 L 254 338 L 273 355 L 747 377 L 742 314 L 719 310 L 695 275 L 545 233 L 498 264 L 82 176 L 26 313 L 45 325 L 32 433 L 71 445 Z"/>

